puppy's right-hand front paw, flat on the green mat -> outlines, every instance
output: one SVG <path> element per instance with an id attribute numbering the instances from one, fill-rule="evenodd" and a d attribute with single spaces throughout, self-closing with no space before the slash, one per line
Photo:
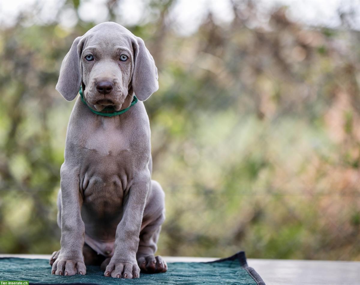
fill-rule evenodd
<path id="1" fill-rule="evenodd" d="M 111 258 L 108 266 L 105 269 L 104 275 L 106 277 L 114 278 L 139 278 L 140 268 L 136 260 L 125 261 L 123 259 Z"/>

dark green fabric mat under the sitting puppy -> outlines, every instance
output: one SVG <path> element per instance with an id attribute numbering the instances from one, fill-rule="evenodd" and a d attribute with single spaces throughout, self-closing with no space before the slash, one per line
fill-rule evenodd
<path id="1" fill-rule="evenodd" d="M 140 274 L 139 279 L 105 277 L 98 266 L 87 266 L 85 276 L 51 275 L 46 259 L 0 258 L 0 281 L 26 280 L 30 284 L 241 284 L 264 285 L 260 276 L 247 266 L 244 252 L 215 262 L 168 263 L 168 271 Z"/>

